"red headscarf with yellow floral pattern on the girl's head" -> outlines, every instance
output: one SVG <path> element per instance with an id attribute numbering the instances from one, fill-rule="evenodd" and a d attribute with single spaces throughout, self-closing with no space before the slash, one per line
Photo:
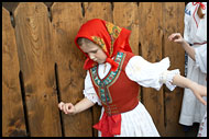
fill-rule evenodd
<path id="1" fill-rule="evenodd" d="M 129 45 L 130 34 L 131 31 L 124 27 L 116 26 L 114 24 L 103 20 L 94 19 L 88 21 L 80 27 L 78 34 L 76 35 L 75 44 L 80 49 L 77 44 L 77 39 L 79 37 L 85 37 L 99 45 L 107 55 L 106 61 L 112 66 L 111 70 L 116 71 L 118 68 L 118 63 L 114 62 L 111 58 L 119 50 L 132 53 Z M 85 61 L 84 69 L 88 70 L 94 66 L 98 65 L 97 62 L 91 60 L 87 54 L 85 55 L 87 59 Z"/>

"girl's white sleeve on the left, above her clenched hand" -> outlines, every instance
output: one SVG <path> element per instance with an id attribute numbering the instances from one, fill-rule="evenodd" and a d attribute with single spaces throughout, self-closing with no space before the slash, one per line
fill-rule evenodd
<path id="1" fill-rule="evenodd" d="M 88 100 L 90 100 L 94 103 L 98 103 L 98 105 L 101 105 L 101 102 L 94 89 L 91 79 L 90 79 L 90 74 L 89 74 L 89 70 L 87 71 L 87 76 L 85 79 L 85 90 L 82 91 L 85 97 L 87 97 Z"/>

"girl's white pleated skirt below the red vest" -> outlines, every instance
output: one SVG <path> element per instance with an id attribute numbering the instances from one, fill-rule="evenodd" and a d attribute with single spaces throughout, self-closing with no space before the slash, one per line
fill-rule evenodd
<path id="1" fill-rule="evenodd" d="M 101 108 L 101 116 L 105 108 Z M 98 131 L 101 137 L 101 131 Z M 153 123 L 153 119 L 144 105 L 139 102 L 139 105 L 130 111 L 121 114 L 121 135 L 114 137 L 160 137 L 160 134 Z"/>

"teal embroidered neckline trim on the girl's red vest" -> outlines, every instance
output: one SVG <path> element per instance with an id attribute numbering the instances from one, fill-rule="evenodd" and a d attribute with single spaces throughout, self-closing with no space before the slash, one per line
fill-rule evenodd
<path id="1" fill-rule="evenodd" d="M 108 74 L 108 77 L 105 78 L 105 80 L 100 80 L 98 78 L 98 74 L 97 74 L 98 67 L 97 66 L 90 69 L 94 82 L 99 88 L 99 97 L 100 97 L 101 102 L 106 105 L 112 103 L 111 94 L 110 94 L 108 88 L 117 80 L 118 74 L 120 74 L 120 68 L 121 68 L 123 59 L 124 59 L 123 55 L 124 55 L 123 53 L 117 54 L 114 61 L 119 63 L 119 67 L 116 71 L 111 71 Z"/>

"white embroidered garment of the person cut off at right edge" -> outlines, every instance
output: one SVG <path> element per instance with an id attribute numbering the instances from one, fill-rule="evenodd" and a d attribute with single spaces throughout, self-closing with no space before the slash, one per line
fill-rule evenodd
<path id="1" fill-rule="evenodd" d="M 189 44 L 207 42 L 207 2 L 204 2 L 204 4 L 206 5 L 206 10 L 204 10 L 204 13 L 206 13 L 204 19 L 199 19 L 197 15 L 199 4 L 193 5 L 193 2 L 189 2 L 186 5 L 184 38 Z M 194 12 L 195 19 L 193 16 Z M 196 49 L 200 46 L 201 45 L 194 45 L 193 47 Z M 196 59 L 197 57 L 200 58 L 201 56 L 197 54 Z M 198 62 L 188 57 L 187 78 L 206 86 L 207 74 L 202 73 L 200 70 L 200 68 L 205 66 L 201 62 L 204 59 L 197 61 Z M 204 99 L 207 100 L 206 96 Z M 206 108 L 207 106 L 200 103 L 189 89 L 185 89 L 179 123 L 187 126 L 191 126 L 194 123 L 200 123 L 206 113 Z"/>

